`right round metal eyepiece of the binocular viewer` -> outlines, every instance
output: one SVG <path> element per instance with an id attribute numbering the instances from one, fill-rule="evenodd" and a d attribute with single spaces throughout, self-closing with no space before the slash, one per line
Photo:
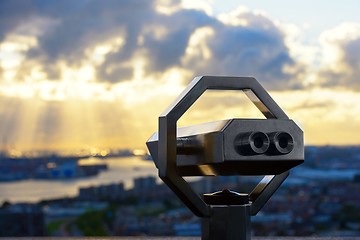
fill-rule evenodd
<path id="1" fill-rule="evenodd" d="M 269 134 L 270 148 L 272 154 L 288 154 L 294 149 L 294 139 L 287 132 L 273 132 Z"/>

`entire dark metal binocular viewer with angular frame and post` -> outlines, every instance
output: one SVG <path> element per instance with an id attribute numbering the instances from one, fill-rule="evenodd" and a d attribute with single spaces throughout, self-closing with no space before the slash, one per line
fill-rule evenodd
<path id="1" fill-rule="evenodd" d="M 229 119 L 177 128 L 177 120 L 206 91 L 243 91 L 267 119 Z M 197 216 L 202 239 L 251 237 L 256 215 L 289 170 L 304 161 L 302 130 L 250 77 L 195 78 L 159 117 L 147 141 L 159 177 Z M 223 190 L 200 197 L 184 176 L 265 175 L 251 193 Z"/>

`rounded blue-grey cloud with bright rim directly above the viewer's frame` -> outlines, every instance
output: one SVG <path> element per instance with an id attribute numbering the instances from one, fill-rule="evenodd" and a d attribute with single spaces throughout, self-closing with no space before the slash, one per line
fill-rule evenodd
<path id="1" fill-rule="evenodd" d="M 270 18 L 242 8 L 225 16 L 212 26 L 213 34 L 206 40 L 212 57 L 194 58 L 189 67 L 199 62 L 195 71 L 200 75 L 254 76 L 272 90 L 301 85 L 297 77 L 301 66 L 290 55 L 284 33 Z"/>

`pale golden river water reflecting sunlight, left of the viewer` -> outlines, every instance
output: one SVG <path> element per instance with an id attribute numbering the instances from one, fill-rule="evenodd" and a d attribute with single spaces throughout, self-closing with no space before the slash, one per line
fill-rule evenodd
<path id="1" fill-rule="evenodd" d="M 97 176 L 69 180 L 21 180 L 0 183 L 0 204 L 5 200 L 14 202 L 37 202 L 42 199 L 73 197 L 80 187 L 98 186 L 123 182 L 125 188 L 133 186 L 133 179 L 140 176 L 157 176 L 152 161 L 140 157 L 108 158 L 100 161 L 109 167 Z"/>

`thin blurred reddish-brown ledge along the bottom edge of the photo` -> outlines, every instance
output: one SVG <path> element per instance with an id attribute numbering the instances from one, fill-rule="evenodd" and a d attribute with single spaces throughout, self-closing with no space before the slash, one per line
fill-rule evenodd
<path id="1" fill-rule="evenodd" d="M 3 237 L 1 240 L 200 240 L 200 237 Z M 359 237 L 253 237 L 253 240 L 360 240 Z"/>

